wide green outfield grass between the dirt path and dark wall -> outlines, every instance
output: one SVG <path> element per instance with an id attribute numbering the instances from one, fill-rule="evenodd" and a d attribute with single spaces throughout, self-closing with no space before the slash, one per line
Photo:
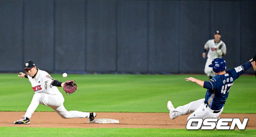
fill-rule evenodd
<path id="1" fill-rule="evenodd" d="M 33 90 L 28 79 L 18 74 L 0 74 L 0 111 L 26 111 Z M 76 80 L 78 91 L 65 98 L 67 110 L 96 112 L 168 112 L 174 107 L 202 99 L 206 89 L 186 81 L 186 77 L 208 80 L 205 75 L 78 75 L 51 74 L 59 81 Z M 256 113 L 255 77 L 241 76 L 230 89 L 223 113 Z M 39 105 L 36 111 L 53 111 Z"/>

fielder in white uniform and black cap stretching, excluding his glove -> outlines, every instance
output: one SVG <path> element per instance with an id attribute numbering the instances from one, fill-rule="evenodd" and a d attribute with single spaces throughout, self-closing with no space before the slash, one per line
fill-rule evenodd
<path id="1" fill-rule="evenodd" d="M 27 75 L 20 72 L 21 75 L 18 76 L 23 79 L 28 78 L 35 94 L 25 115 L 20 120 L 15 121 L 14 124 L 30 124 L 30 118 L 39 104 L 51 107 L 64 119 L 89 118 L 91 121 L 94 120 L 96 113 L 67 111 L 65 109 L 63 95 L 56 87 L 63 87 L 65 82 L 53 79 L 46 71 L 38 69 L 32 61 L 27 61 L 24 67 Z"/>

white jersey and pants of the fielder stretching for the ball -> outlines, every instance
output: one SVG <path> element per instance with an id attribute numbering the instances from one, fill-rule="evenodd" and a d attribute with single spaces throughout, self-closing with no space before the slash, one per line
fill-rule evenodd
<path id="1" fill-rule="evenodd" d="M 52 86 L 54 79 L 43 70 L 37 69 L 35 77 L 28 76 L 32 89 L 35 92 L 33 99 L 28 106 L 25 117 L 31 118 L 39 104 L 51 107 L 59 116 L 64 119 L 68 118 L 89 118 L 89 112 L 67 111 L 63 106 L 64 98 L 56 86 Z"/>

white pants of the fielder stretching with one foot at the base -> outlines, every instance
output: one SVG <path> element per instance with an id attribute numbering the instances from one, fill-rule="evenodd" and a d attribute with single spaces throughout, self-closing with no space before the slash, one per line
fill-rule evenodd
<path id="1" fill-rule="evenodd" d="M 50 95 L 46 93 L 35 93 L 24 116 L 30 119 L 35 109 L 37 108 L 37 106 L 39 104 L 43 104 L 45 106 L 51 107 L 63 119 L 85 118 L 85 117 L 89 118 L 90 116 L 89 112 L 67 111 L 63 106 L 63 102 L 64 102 L 64 98 L 62 94 Z"/>

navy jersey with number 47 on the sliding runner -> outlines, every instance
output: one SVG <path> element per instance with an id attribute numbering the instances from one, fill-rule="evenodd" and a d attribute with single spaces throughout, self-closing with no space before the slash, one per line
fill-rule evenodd
<path id="1" fill-rule="evenodd" d="M 244 73 L 243 66 L 229 69 L 224 75 L 215 75 L 209 80 L 212 88 L 208 89 L 205 95 L 205 103 L 212 110 L 221 110 L 224 106 L 228 93 L 234 81 Z"/>

